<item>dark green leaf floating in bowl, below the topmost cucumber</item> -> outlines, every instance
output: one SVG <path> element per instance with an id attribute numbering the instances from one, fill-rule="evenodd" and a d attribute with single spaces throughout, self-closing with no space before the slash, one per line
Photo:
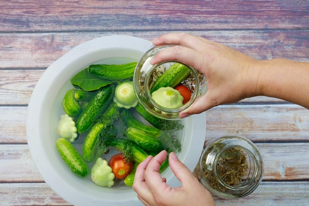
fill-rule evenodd
<path id="1" fill-rule="evenodd" d="M 108 84 L 115 83 L 112 80 L 101 79 L 96 75 L 90 73 L 88 68 L 82 69 L 75 76 L 72 77 L 71 83 L 85 91 L 98 90 Z"/>

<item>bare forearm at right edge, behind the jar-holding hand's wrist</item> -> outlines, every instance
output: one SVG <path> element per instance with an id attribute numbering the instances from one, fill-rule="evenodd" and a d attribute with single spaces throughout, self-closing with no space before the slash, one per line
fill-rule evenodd
<path id="1" fill-rule="evenodd" d="M 284 59 L 260 61 L 259 95 L 279 98 L 309 109 L 309 63 Z"/>

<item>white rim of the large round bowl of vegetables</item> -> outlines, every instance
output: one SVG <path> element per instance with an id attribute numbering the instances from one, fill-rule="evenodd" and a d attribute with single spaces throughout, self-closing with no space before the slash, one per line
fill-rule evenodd
<path id="1" fill-rule="evenodd" d="M 51 87 L 52 79 L 56 78 L 55 74 L 69 65 L 71 60 L 78 59 L 91 52 L 110 48 L 134 48 L 135 50 L 146 52 L 151 46 L 153 46 L 152 43 L 146 39 L 127 35 L 108 35 L 86 41 L 77 45 L 75 48 L 52 63 L 42 74 L 37 85 L 35 86 L 27 112 L 26 128 L 29 149 L 33 161 L 44 181 L 60 197 L 71 204 L 136 206 L 141 204 L 141 202 L 137 199 L 133 190 L 131 191 L 131 194 L 128 194 L 128 196 L 134 197 L 131 199 L 121 200 L 119 198 L 119 194 L 109 194 L 108 198 L 110 199 L 106 199 L 106 197 L 93 198 L 87 194 L 81 193 L 77 188 L 71 186 L 70 184 L 67 184 L 65 179 L 63 179 L 61 175 L 58 175 L 55 169 L 50 166 L 48 167 L 48 157 L 44 152 L 44 147 L 42 146 L 42 138 L 39 138 L 41 128 L 39 122 L 41 114 L 39 111 L 41 111 L 41 108 L 43 107 L 42 101 L 44 98 L 42 97 L 46 96 L 46 94 L 44 94 L 45 90 L 42 88 Z M 193 172 L 204 145 L 203 142 L 206 133 L 205 114 L 201 113 L 192 115 L 187 117 L 184 121 L 185 125 L 192 126 L 192 129 L 187 131 L 186 135 L 194 137 L 194 141 L 190 140 L 189 142 L 186 142 L 189 144 L 189 149 L 186 152 L 181 152 L 179 154 L 179 159 Z M 179 181 L 170 170 L 168 175 L 170 175 L 170 178 L 167 179 L 167 183 L 169 185 L 172 187 L 180 186 Z M 55 181 L 55 179 L 57 179 L 57 181 Z"/>

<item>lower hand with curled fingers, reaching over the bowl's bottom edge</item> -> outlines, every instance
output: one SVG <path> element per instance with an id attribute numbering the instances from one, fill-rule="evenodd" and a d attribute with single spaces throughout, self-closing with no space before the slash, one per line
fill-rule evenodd
<path id="1" fill-rule="evenodd" d="M 182 186 L 171 188 L 159 174 L 166 151 L 155 157 L 149 156 L 138 166 L 133 190 L 146 206 L 215 206 L 214 200 L 193 173 L 178 160 L 175 153 L 169 154 L 169 165 Z"/>

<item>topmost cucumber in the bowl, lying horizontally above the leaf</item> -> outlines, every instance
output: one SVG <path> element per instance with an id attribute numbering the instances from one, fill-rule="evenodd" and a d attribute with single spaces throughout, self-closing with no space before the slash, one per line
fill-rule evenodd
<path id="1" fill-rule="evenodd" d="M 90 65 L 88 71 L 99 78 L 108 80 L 121 80 L 133 76 L 137 62 L 122 65 Z"/>

